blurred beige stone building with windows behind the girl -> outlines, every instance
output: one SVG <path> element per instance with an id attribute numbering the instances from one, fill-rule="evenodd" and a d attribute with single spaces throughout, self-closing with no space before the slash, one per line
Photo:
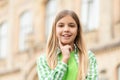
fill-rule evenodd
<path id="1" fill-rule="evenodd" d="M 120 0 L 0 0 L 0 80 L 38 80 L 36 59 L 64 9 L 80 18 L 99 80 L 120 80 Z"/>

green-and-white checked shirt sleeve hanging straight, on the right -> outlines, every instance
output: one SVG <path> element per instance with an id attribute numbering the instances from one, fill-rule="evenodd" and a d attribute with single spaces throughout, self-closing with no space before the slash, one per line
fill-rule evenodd
<path id="1" fill-rule="evenodd" d="M 89 69 L 86 80 L 98 80 L 97 61 L 92 52 L 89 52 Z"/>

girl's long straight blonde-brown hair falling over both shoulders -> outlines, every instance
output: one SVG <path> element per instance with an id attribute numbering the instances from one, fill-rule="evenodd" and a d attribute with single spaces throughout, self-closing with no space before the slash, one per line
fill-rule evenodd
<path id="1" fill-rule="evenodd" d="M 88 69 L 88 53 L 83 40 L 81 24 L 77 14 L 74 11 L 63 10 L 56 16 L 52 26 L 52 32 L 49 36 L 47 43 L 47 55 L 46 55 L 47 63 L 51 69 L 54 69 L 57 65 L 58 55 L 56 53 L 56 50 L 57 50 L 58 39 L 56 37 L 56 24 L 60 19 L 62 19 L 67 15 L 71 16 L 75 20 L 78 27 L 77 36 L 74 40 L 74 43 L 78 48 L 78 57 L 79 57 L 77 80 L 84 80 Z"/>

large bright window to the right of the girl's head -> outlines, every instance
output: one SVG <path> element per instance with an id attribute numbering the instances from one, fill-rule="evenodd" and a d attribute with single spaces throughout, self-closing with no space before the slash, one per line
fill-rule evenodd
<path id="1" fill-rule="evenodd" d="M 94 30 L 99 26 L 99 0 L 82 0 L 81 22 L 84 31 Z"/>

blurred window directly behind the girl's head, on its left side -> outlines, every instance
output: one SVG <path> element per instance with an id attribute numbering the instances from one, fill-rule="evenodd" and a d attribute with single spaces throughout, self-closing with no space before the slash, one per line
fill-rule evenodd
<path id="1" fill-rule="evenodd" d="M 46 9 L 46 37 L 52 29 L 53 19 L 57 11 L 57 0 L 49 0 Z"/>

